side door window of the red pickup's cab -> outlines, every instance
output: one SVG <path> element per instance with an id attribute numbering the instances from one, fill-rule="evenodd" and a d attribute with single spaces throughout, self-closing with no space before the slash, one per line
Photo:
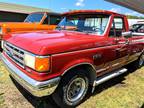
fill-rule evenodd
<path id="1" fill-rule="evenodd" d="M 122 36 L 122 32 L 126 31 L 124 20 L 121 17 L 115 17 L 113 20 L 113 24 L 111 26 L 109 36 L 110 37 L 120 37 Z"/>

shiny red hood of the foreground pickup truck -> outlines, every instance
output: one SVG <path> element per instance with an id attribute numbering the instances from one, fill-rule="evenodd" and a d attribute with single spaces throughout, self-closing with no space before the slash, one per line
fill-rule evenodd
<path id="1" fill-rule="evenodd" d="M 68 31 L 37 31 L 9 34 L 7 41 L 37 55 L 58 54 L 102 45 L 103 36 Z"/>

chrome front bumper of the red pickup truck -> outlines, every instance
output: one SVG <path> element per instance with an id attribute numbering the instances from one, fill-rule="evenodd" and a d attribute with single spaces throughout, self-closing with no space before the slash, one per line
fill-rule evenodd
<path id="1" fill-rule="evenodd" d="M 0 57 L 10 75 L 32 95 L 37 97 L 48 96 L 51 95 L 57 88 L 60 77 L 42 82 L 36 81 L 9 62 L 3 54 L 0 54 Z"/>

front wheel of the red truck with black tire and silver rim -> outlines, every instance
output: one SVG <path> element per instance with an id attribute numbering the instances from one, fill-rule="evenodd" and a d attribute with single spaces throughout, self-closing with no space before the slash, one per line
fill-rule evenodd
<path id="1" fill-rule="evenodd" d="M 73 108 L 83 101 L 89 86 L 85 72 L 85 70 L 77 69 L 63 77 L 60 85 L 52 94 L 53 100 L 59 107 Z"/>

